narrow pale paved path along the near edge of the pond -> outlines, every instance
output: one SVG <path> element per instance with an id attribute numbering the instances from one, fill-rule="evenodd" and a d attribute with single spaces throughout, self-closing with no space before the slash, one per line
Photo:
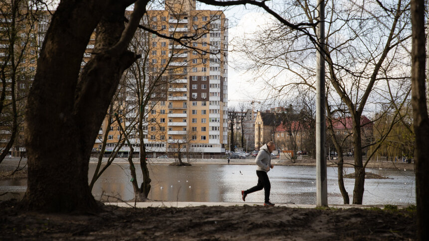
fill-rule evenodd
<path id="1" fill-rule="evenodd" d="M 198 207 L 198 206 L 263 206 L 264 203 L 249 203 L 249 202 L 162 202 L 162 201 L 154 201 L 154 202 L 128 202 L 128 203 L 105 203 L 106 205 L 115 205 L 118 207 L 125 208 L 186 208 L 186 207 Z M 135 205 L 135 206 L 134 206 Z M 286 207 L 286 208 L 316 208 L 316 205 L 308 205 L 308 204 L 291 204 L 291 203 L 276 203 L 275 207 Z M 330 208 L 384 208 L 383 205 L 329 205 Z M 399 209 L 405 208 L 402 206 L 398 206 Z"/>

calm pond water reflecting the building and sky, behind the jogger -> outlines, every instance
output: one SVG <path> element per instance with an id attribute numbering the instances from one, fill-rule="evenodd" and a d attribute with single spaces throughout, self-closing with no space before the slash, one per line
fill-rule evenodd
<path id="1" fill-rule="evenodd" d="M 95 169 L 91 163 L 89 178 Z M 346 169 L 347 173 L 353 169 Z M 367 169 L 367 172 L 393 179 L 366 179 L 363 204 L 410 205 L 416 203 L 415 175 L 413 171 L 391 169 Z M 112 165 L 101 175 L 93 188 L 94 197 L 99 199 L 131 200 L 134 197 L 128 164 Z M 337 168 L 328 167 L 328 204 L 342 204 L 338 189 Z M 194 202 L 242 202 L 240 190 L 257 183 L 255 165 L 193 165 L 168 166 L 150 165 L 152 189 L 149 199 L 160 201 Z M 138 181 L 142 180 L 137 172 Z M 273 203 L 316 203 L 316 168 L 303 166 L 275 166 L 268 173 L 271 182 L 270 200 Z M 13 192 L 0 200 L 18 198 L 25 192 L 26 180 L 0 181 L 0 193 Z M 345 179 L 346 190 L 353 200 L 354 179 Z M 16 197 L 18 195 L 18 197 Z M 263 190 L 251 193 L 247 202 L 263 202 Z M 108 197 L 110 196 L 110 197 Z M 116 201 L 116 200 L 115 200 Z"/>

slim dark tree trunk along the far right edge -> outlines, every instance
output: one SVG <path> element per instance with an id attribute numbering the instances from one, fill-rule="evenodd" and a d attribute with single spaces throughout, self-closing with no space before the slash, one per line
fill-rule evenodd
<path id="1" fill-rule="evenodd" d="M 421 241 L 429 240 L 429 118 L 425 86 L 425 1 L 411 0 L 411 22 L 413 29 L 411 88 L 416 133 L 416 203 L 417 233 Z"/>

